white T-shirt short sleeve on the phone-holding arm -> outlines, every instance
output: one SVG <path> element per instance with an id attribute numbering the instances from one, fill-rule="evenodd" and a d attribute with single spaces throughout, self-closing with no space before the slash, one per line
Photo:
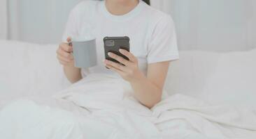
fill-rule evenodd
<path id="1" fill-rule="evenodd" d="M 148 44 L 148 63 L 159 63 L 179 58 L 173 19 L 165 15 L 159 20 Z"/>

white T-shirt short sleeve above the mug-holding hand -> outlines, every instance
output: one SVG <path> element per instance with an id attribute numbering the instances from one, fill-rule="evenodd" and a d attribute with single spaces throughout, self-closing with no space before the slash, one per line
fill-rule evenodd
<path id="1" fill-rule="evenodd" d="M 71 10 L 69 14 L 68 21 L 66 22 L 66 28 L 62 35 L 62 41 L 66 42 L 66 38 L 78 35 L 78 13 L 76 12 L 76 8 Z"/>

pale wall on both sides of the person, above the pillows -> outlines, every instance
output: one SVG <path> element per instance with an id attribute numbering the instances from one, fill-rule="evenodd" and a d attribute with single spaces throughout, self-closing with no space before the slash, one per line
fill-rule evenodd
<path id="1" fill-rule="evenodd" d="M 57 43 L 67 15 L 80 0 L 8 0 L 9 38 Z M 255 0 L 151 0 L 173 16 L 181 50 L 256 48 Z"/>

